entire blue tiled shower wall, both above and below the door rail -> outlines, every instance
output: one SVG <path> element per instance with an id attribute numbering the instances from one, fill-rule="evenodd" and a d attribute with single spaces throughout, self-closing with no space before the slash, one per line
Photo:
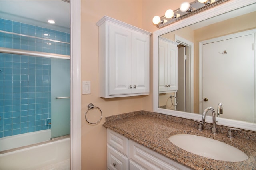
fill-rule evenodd
<path id="1" fill-rule="evenodd" d="M 1 18 L 0 30 L 70 42 L 69 33 Z M 70 55 L 69 44 L 1 32 L 0 47 Z M 0 53 L 0 138 L 51 127 L 50 80 L 51 59 Z"/>

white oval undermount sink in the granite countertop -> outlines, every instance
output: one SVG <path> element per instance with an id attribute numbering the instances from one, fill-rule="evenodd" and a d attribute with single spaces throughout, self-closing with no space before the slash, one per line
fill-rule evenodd
<path id="1" fill-rule="evenodd" d="M 241 150 L 211 138 L 192 134 L 176 134 L 171 136 L 169 140 L 176 146 L 188 152 L 206 158 L 231 162 L 248 159 L 248 156 Z"/>

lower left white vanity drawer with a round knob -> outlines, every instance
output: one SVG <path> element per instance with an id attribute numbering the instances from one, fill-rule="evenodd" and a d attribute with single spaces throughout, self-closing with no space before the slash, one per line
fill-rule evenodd
<path id="1" fill-rule="evenodd" d="M 109 170 L 128 170 L 129 158 L 118 152 L 112 146 L 108 145 L 107 148 L 108 157 L 108 169 Z"/>

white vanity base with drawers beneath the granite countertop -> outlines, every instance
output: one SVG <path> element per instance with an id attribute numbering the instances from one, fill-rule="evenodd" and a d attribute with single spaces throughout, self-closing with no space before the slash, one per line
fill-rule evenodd
<path id="1" fill-rule="evenodd" d="M 109 170 L 191 170 L 158 152 L 107 129 Z"/>

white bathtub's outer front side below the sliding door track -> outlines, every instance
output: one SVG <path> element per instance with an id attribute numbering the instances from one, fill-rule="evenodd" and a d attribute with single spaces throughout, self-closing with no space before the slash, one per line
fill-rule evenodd
<path id="1" fill-rule="evenodd" d="M 17 141 L 16 143 L 19 142 Z M 69 160 L 70 136 L 65 136 L 0 152 L 0 170 L 52 169 L 56 165 L 68 170 L 70 169 Z"/>

